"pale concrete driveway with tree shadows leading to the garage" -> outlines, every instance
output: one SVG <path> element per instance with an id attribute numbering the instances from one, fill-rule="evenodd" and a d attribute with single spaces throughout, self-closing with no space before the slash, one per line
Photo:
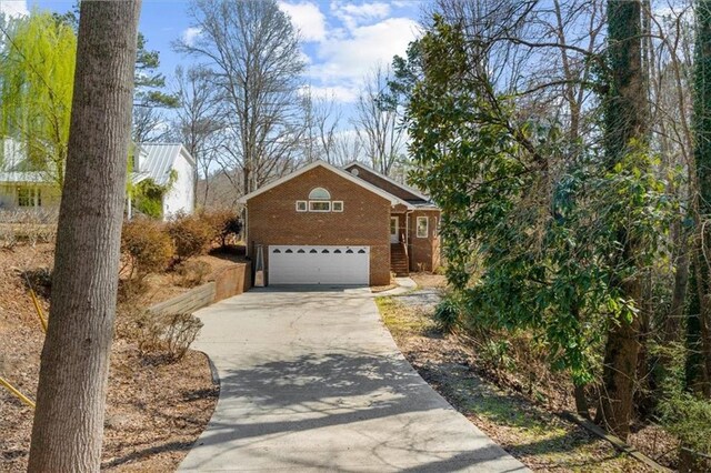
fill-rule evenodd
<path id="1" fill-rule="evenodd" d="M 363 290 L 253 290 L 197 314 L 221 391 L 182 471 L 525 471 L 410 368 Z"/>

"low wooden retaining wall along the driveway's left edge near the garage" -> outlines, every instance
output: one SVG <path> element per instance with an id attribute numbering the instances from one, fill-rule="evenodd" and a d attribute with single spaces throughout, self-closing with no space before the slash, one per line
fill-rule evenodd
<path id="1" fill-rule="evenodd" d="M 191 289 L 148 310 L 156 314 L 194 312 L 214 302 L 249 291 L 252 286 L 252 268 L 249 262 L 234 263 L 217 274 L 214 281 Z"/>

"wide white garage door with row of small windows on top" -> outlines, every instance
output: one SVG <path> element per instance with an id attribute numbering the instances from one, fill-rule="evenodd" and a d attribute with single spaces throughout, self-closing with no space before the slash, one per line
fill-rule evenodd
<path id="1" fill-rule="evenodd" d="M 270 284 L 368 284 L 370 246 L 269 246 Z"/>

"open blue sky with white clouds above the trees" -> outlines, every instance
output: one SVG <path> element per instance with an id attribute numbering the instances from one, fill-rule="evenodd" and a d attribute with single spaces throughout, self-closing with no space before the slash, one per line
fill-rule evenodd
<path id="1" fill-rule="evenodd" d="M 403 56 L 418 36 L 418 18 L 424 1 L 329 1 L 281 0 L 299 29 L 304 59 L 306 81 L 312 93 L 333 97 L 352 108 L 364 77 L 373 68 L 388 66 L 394 54 Z M 33 8 L 63 12 L 74 0 L 0 0 L 0 11 L 26 14 Z M 160 51 L 161 72 L 170 78 L 177 66 L 196 60 L 173 52 L 171 42 L 193 39 L 200 31 L 191 24 L 187 0 L 143 0 L 140 30 L 148 49 Z M 347 113 L 348 114 L 348 113 Z"/>

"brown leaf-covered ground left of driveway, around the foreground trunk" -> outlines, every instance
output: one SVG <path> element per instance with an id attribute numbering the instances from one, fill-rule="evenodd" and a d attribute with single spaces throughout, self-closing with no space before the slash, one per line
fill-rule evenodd
<path id="1" fill-rule="evenodd" d="M 17 269 L 48 269 L 52 258 L 51 244 L 0 250 L 0 375 L 30 399 L 37 391 L 44 335 Z M 46 292 L 38 288 L 40 304 L 48 313 Z M 168 288 L 160 294 L 170 296 L 172 291 Z M 134 341 L 117 339 L 111 353 L 102 470 L 176 470 L 204 430 L 217 396 L 204 354 L 189 351 L 178 362 L 153 363 L 140 355 Z M 27 469 L 32 414 L 29 406 L 0 389 L 0 471 Z"/>

